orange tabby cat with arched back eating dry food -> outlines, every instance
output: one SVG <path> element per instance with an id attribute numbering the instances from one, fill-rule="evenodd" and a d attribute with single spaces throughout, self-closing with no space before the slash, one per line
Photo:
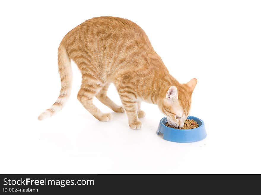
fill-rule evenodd
<path id="1" fill-rule="evenodd" d="M 115 112 L 125 110 L 132 129 L 140 129 L 138 118 L 145 116 L 141 101 L 157 104 L 172 125 L 184 125 L 197 80 L 180 84 L 169 74 L 145 32 L 136 23 L 115 17 L 86 20 L 65 35 L 58 48 L 61 92 L 39 120 L 61 110 L 69 97 L 71 60 L 82 73 L 77 98 L 99 121 L 109 121 L 112 115 L 101 112 L 93 104 L 95 96 Z M 111 83 L 116 86 L 123 107 L 106 95 Z"/>

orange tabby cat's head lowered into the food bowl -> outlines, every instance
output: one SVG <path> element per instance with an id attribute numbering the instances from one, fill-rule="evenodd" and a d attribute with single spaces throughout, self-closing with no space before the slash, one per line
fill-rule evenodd
<path id="1" fill-rule="evenodd" d="M 191 107 L 191 95 L 197 84 L 197 79 L 191 79 L 188 83 L 170 86 L 164 91 L 160 104 L 160 111 L 166 115 L 168 123 L 175 127 L 183 127 Z"/>

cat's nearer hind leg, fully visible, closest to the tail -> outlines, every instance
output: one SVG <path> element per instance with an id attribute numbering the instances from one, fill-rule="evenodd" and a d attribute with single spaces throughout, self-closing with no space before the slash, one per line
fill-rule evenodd
<path id="1" fill-rule="evenodd" d="M 90 75 L 89 75 L 90 76 Z M 94 82 L 86 74 L 82 75 L 82 85 L 78 92 L 77 99 L 95 118 L 99 121 L 110 121 L 112 115 L 103 113 L 93 104 L 93 98 L 104 87 L 102 83 Z"/>

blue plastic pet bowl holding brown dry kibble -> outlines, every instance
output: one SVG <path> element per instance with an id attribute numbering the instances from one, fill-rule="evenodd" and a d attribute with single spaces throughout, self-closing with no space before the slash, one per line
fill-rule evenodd
<path id="1" fill-rule="evenodd" d="M 167 120 L 166 117 L 164 117 L 160 120 L 157 135 L 160 132 L 163 134 L 163 139 L 179 143 L 197 142 L 205 139 L 207 133 L 204 122 L 195 116 L 189 116 L 187 119 L 193 119 L 196 121 L 198 123 L 198 127 L 195 129 L 173 129 L 165 126 Z"/>

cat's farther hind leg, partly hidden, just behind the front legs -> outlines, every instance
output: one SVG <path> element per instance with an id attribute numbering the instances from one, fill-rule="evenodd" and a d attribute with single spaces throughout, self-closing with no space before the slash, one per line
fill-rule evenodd
<path id="1" fill-rule="evenodd" d="M 124 112 L 123 107 L 118 106 L 115 104 L 109 97 L 107 96 L 107 91 L 110 86 L 110 83 L 107 83 L 104 85 L 104 87 L 97 93 L 96 97 L 98 100 L 101 101 L 104 105 L 108 106 L 110 109 L 112 109 L 114 112 Z"/>

